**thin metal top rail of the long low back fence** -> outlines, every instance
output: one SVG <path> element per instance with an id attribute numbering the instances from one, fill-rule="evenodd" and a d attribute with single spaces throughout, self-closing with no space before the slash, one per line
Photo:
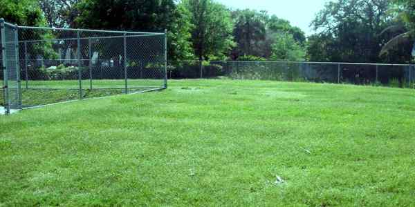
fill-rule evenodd
<path id="1" fill-rule="evenodd" d="M 198 62 L 199 60 L 189 60 L 185 62 Z M 360 65 L 360 66 L 412 66 L 412 64 L 402 63 L 347 63 L 347 62 L 315 62 L 315 61 L 210 61 L 210 62 L 233 62 L 233 63 L 308 63 L 308 64 L 331 64 L 331 65 Z"/>

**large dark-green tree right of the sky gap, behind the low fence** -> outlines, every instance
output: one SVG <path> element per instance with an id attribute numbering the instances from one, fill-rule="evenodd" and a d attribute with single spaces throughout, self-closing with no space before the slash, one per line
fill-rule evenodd
<path id="1" fill-rule="evenodd" d="M 410 59 L 410 46 L 397 48 L 386 57 L 379 57 L 381 45 L 389 35 L 382 30 L 394 24 L 389 12 L 390 0 L 340 0 L 326 4 L 312 22 L 318 32 L 308 43 L 311 61 L 392 62 Z"/>

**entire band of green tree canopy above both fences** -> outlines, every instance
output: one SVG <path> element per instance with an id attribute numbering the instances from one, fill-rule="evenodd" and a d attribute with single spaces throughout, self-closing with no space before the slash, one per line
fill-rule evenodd
<path id="1" fill-rule="evenodd" d="M 414 0 L 336 0 L 311 26 L 214 0 L 3 0 L 0 16 L 25 26 L 163 32 L 169 61 L 217 59 L 412 61 Z"/>

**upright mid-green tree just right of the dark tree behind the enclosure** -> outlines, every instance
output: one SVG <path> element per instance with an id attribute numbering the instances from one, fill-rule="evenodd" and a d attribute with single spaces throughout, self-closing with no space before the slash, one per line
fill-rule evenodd
<path id="1" fill-rule="evenodd" d="M 193 24 L 192 39 L 196 57 L 225 59 L 235 46 L 233 23 L 228 8 L 212 0 L 183 0 Z"/>

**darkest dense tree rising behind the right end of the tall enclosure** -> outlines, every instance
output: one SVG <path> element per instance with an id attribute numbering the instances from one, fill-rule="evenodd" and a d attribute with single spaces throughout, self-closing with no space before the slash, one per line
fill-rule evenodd
<path id="1" fill-rule="evenodd" d="M 148 32 L 167 28 L 169 60 L 193 57 L 190 20 L 174 0 L 83 0 L 77 10 L 81 11 L 75 19 L 79 28 Z"/>

